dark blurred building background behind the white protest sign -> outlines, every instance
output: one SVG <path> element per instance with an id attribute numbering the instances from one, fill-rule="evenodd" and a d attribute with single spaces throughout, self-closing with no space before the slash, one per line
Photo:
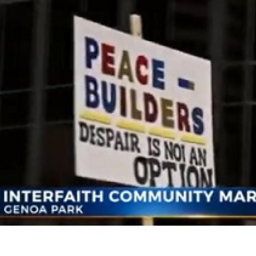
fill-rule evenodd
<path id="1" fill-rule="evenodd" d="M 0 0 L 0 186 L 117 185 L 74 176 L 73 15 L 129 33 L 130 13 L 143 38 L 212 61 L 217 185 L 256 186 L 255 0 Z"/>

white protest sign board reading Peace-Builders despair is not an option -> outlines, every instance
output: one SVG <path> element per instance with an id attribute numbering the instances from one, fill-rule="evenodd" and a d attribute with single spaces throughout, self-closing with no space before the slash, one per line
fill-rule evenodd
<path id="1" fill-rule="evenodd" d="M 215 186 L 210 61 L 74 17 L 76 175 Z"/>

